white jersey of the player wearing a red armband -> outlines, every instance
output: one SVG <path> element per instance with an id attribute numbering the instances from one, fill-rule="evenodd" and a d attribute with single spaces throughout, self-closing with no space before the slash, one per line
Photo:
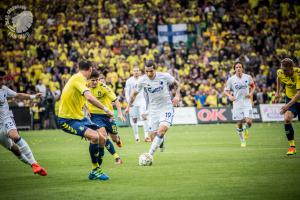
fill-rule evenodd
<path id="1" fill-rule="evenodd" d="M 235 98 L 233 109 L 252 107 L 250 99 L 246 97 L 249 94 L 250 84 L 252 83 L 252 77 L 244 73 L 241 78 L 233 75 L 227 80 L 225 90 L 233 91 Z"/>

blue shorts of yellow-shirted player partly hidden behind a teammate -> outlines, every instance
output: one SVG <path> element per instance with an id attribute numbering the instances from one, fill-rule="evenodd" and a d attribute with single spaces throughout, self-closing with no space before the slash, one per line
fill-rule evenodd
<path id="1" fill-rule="evenodd" d="M 99 127 L 105 127 L 106 132 L 110 134 L 118 134 L 116 122 L 105 114 L 91 114 L 91 120 Z"/>

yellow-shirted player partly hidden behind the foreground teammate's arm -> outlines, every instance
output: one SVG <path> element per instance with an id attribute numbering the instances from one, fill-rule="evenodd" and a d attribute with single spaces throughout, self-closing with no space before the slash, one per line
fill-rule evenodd
<path id="1" fill-rule="evenodd" d="M 112 112 L 112 103 L 114 102 L 118 110 L 118 118 L 124 122 L 125 118 L 122 114 L 119 100 L 117 99 L 115 93 L 107 85 L 105 85 L 105 83 L 99 81 L 99 75 L 100 74 L 97 70 L 92 72 L 89 82 L 91 93 Z M 89 102 L 87 103 L 87 109 L 90 113 L 92 122 L 100 126 L 102 131 L 109 133 L 112 140 L 119 147 L 122 147 L 122 142 L 118 135 L 117 126 L 113 118 Z M 114 156 L 116 164 L 121 164 L 122 161 L 119 155 L 116 153 L 113 143 L 109 139 L 106 140 L 105 146 L 107 150 Z"/>

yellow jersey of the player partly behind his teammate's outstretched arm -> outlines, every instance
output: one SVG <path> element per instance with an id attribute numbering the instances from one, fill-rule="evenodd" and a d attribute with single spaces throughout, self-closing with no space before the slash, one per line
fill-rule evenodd
<path id="1" fill-rule="evenodd" d="M 89 88 L 93 96 L 95 96 L 110 111 L 114 111 L 112 102 L 117 99 L 116 94 L 104 83 L 98 82 L 95 88 Z M 107 114 L 104 110 L 99 109 L 93 104 L 87 102 L 87 108 L 92 114 Z"/>

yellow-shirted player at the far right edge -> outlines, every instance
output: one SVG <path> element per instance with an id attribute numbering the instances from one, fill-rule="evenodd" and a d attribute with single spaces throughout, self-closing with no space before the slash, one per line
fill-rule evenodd
<path id="1" fill-rule="evenodd" d="M 277 89 L 275 102 L 280 98 L 281 85 L 285 86 L 285 102 L 280 114 L 284 114 L 284 129 L 290 147 L 287 155 L 296 154 L 294 141 L 293 118 L 300 114 L 300 69 L 294 67 L 293 60 L 285 58 L 281 61 L 281 69 L 277 70 Z"/>

